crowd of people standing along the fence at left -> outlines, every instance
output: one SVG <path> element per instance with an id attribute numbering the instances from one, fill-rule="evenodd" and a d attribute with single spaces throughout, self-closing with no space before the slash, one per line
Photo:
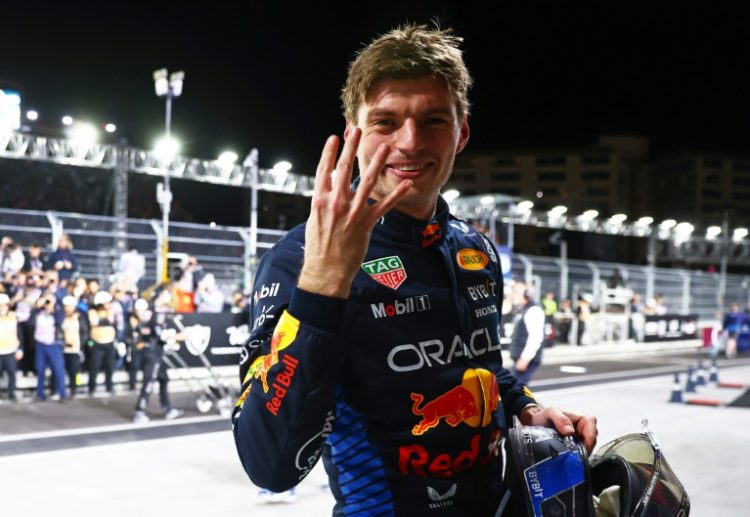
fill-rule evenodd
<path id="1" fill-rule="evenodd" d="M 121 257 L 111 285 L 103 288 L 97 279 L 80 275 L 68 235 L 62 235 L 49 253 L 40 244 L 24 247 L 3 237 L 0 385 L 5 373 L 7 398 L 17 400 L 19 375 L 36 377 L 36 401 L 66 400 L 82 392 L 109 396 L 114 392 L 113 374 L 121 369 L 128 372 L 132 391 L 142 372 L 136 420 L 145 418 L 153 382 L 162 385 L 165 413 L 177 415 L 169 405 L 166 366 L 160 358 L 164 343 L 159 332 L 165 315 L 246 312 L 248 299 L 236 292 L 225 300 L 213 275 L 204 274 L 195 257 L 183 260 L 170 284 L 141 291 L 144 270 L 143 256 L 131 249 Z M 86 386 L 81 383 L 83 372 L 88 373 Z"/>

